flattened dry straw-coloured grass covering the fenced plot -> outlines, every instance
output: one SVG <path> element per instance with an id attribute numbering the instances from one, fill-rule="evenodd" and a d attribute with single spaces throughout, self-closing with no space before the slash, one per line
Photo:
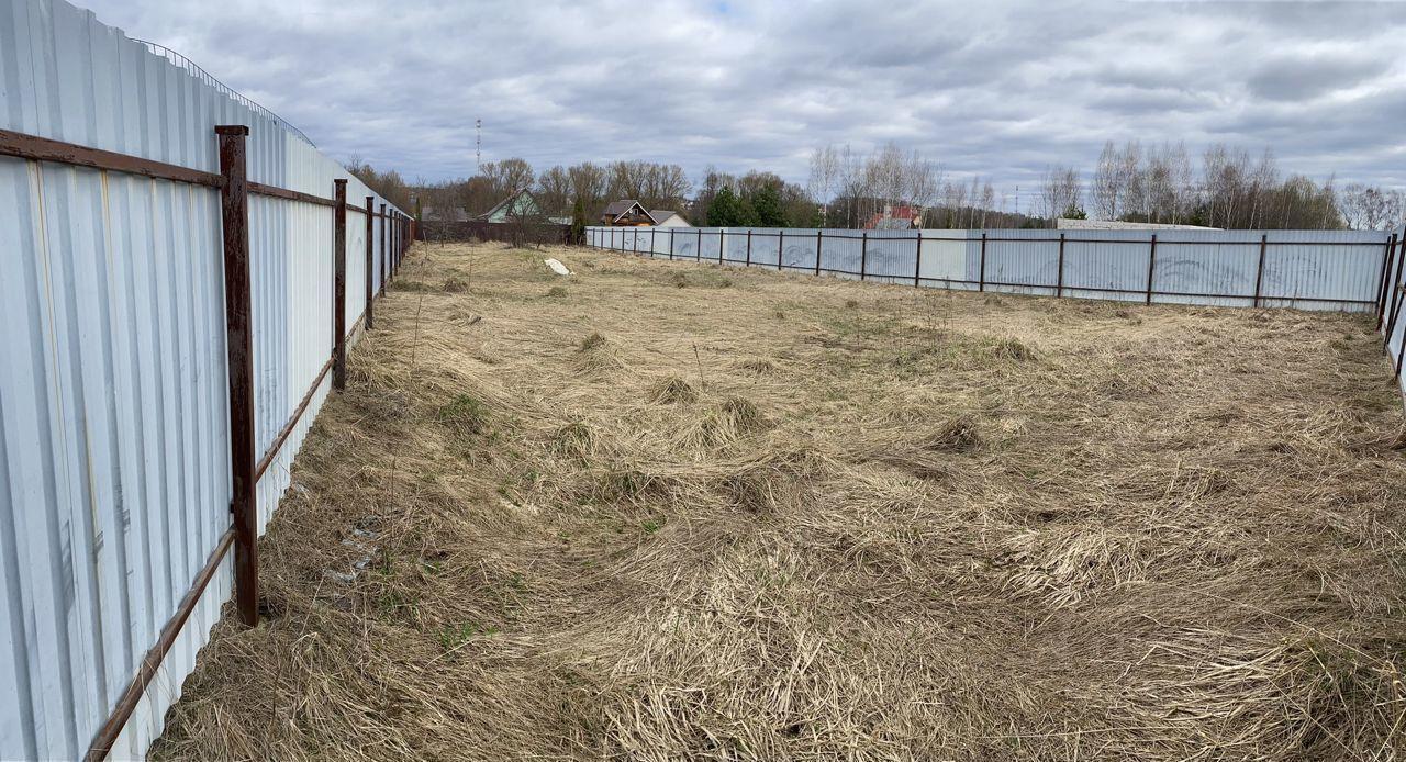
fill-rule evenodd
<path id="1" fill-rule="evenodd" d="M 1374 325 L 416 247 L 166 759 L 1396 759 Z"/>

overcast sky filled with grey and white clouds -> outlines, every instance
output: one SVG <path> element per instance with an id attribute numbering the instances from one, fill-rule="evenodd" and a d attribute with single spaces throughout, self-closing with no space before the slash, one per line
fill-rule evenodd
<path id="1" fill-rule="evenodd" d="M 1402 3 L 77 1 L 408 179 L 471 173 L 481 118 L 485 162 L 538 169 L 804 181 L 893 141 L 1011 193 L 1136 138 L 1406 187 Z"/>

